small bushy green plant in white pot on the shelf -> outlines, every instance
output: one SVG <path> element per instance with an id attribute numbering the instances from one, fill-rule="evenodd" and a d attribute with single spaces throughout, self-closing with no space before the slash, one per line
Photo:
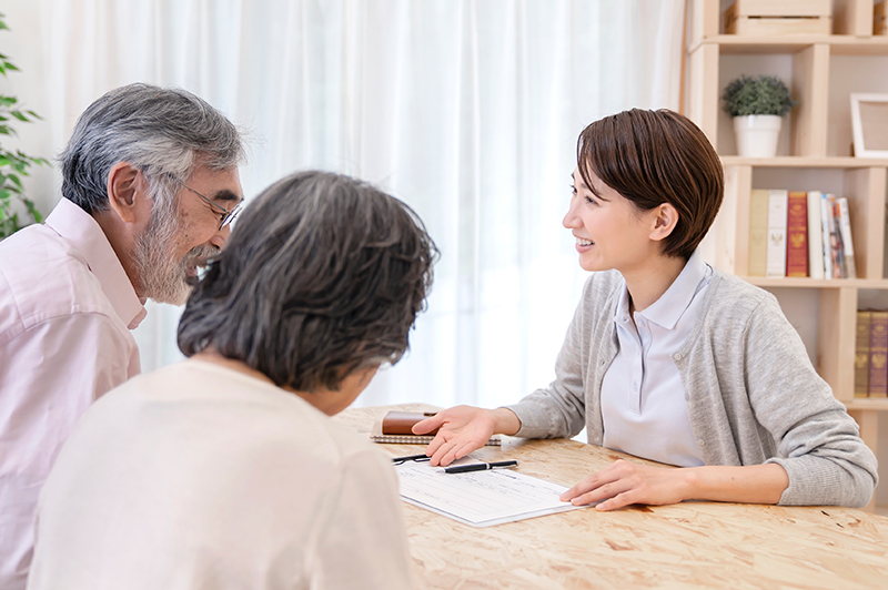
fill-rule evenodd
<path id="1" fill-rule="evenodd" d="M 776 75 L 741 75 L 725 87 L 725 112 L 734 118 L 737 153 L 774 157 L 783 118 L 796 105 L 789 89 Z"/>

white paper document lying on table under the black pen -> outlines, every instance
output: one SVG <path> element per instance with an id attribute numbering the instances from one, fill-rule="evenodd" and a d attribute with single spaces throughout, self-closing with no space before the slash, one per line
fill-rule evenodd
<path id="1" fill-rule="evenodd" d="M 473 527 L 585 508 L 563 502 L 567 488 L 509 469 L 445 474 L 427 462 L 395 467 L 405 501 Z"/>

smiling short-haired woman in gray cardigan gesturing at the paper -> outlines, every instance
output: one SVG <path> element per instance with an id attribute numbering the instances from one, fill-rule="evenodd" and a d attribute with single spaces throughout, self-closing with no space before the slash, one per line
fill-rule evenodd
<path id="1" fill-rule="evenodd" d="M 447 465 L 501 433 L 573 437 L 664 464 L 594 472 L 562 499 L 865 506 L 876 459 L 769 293 L 703 262 L 722 164 L 670 111 L 586 128 L 564 226 L 592 271 L 555 380 L 518 404 L 458 406 L 414 427 Z"/>

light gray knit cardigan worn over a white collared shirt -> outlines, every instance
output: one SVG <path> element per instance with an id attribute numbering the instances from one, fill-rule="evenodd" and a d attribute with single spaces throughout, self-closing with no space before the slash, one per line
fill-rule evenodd
<path id="1" fill-rule="evenodd" d="M 616 271 L 593 273 L 555 364 L 556 379 L 514 406 L 517 436 L 604 438 L 601 393 L 617 354 Z M 878 481 L 857 424 L 811 366 L 777 299 L 713 269 L 703 309 L 673 355 L 706 465 L 777 462 L 789 475 L 781 505 L 869 502 Z"/>

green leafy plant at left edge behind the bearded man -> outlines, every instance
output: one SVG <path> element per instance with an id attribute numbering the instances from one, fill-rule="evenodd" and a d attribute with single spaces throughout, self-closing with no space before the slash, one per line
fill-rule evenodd
<path id="1" fill-rule="evenodd" d="M 9 30 L 6 23 L 6 16 L 0 13 L 0 30 Z M 18 72 L 14 63 L 9 61 L 7 55 L 0 53 L 0 73 Z M 36 112 L 23 110 L 18 106 L 16 96 L 0 95 L 0 135 L 18 135 L 12 124 L 16 122 L 31 123 L 40 119 Z M 24 195 L 24 186 L 21 177 L 28 175 L 28 169 L 32 165 L 49 165 L 42 157 L 32 157 L 21 150 L 14 152 L 7 150 L 0 144 L 0 240 L 13 234 L 24 225 L 19 218 L 18 203 L 24 205 L 28 215 L 37 223 L 43 221 L 43 215 L 37 210 L 33 201 Z"/>

